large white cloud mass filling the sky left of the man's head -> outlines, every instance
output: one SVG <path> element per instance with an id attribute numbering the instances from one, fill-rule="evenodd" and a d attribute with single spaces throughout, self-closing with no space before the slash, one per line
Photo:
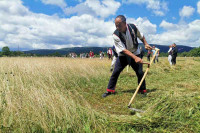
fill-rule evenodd
<path id="1" fill-rule="evenodd" d="M 0 46 L 23 49 L 112 46 L 113 21 L 91 15 L 59 18 L 30 12 L 18 0 L 0 1 Z M 10 10 L 10 8 L 15 10 Z"/>

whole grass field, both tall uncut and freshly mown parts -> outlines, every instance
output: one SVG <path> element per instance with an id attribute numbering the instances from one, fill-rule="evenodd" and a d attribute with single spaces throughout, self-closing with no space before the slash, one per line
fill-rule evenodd
<path id="1" fill-rule="evenodd" d="M 146 60 L 146 58 L 144 59 Z M 0 58 L 0 132 L 200 132 L 200 58 L 159 58 L 148 95 L 127 105 L 137 77 L 121 73 L 115 95 L 102 98 L 111 61 Z M 144 66 L 144 70 L 147 66 Z"/>

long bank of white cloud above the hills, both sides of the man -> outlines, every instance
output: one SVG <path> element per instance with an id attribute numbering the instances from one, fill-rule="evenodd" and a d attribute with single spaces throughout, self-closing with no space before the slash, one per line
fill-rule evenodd
<path id="1" fill-rule="evenodd" d="M 90 8 L 90 10 L 93 10 Z M 93 11 L 94 14 L 96 14 Z M 148 43 L 199 46 L 200 20 L 173 24 L 165 20 L 159 27 L 147 18 L 127 18 L 144 33 Z M 0 47 L 20 49 L 64 48 L 74 46 L 112 46 L 113 21 L 105 21 L 90 14 L 59 18 L 28 10 L 20 0 L 0 1 Z"/>

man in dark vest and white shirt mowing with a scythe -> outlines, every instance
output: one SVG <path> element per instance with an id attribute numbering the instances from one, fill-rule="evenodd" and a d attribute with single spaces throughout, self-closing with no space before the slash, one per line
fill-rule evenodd
<path id="1" fill-rule="evenodd" d="M 102 95 L 102 97 L 107 97 L 115 93 L 118 77 L 121 71 L 128 64 L 130 64 L 133 70 L 136 72 L 138 84 L 140 83 L 144 72 L 142 67 L 143 61 L 140 58 L 140 49 L 138 48 L 137 38 L 144 43 L 146 49 L 152 49 L 147 43 L 145 37 L 140 34 L 140 31 L 137 29 L 137 27 L 134 24 L 126 23 L 126 18 L 123 15 L 119 15 L 115 18 L 115 26 L 116 30 L 113 34 L 113 39 L 118 57 L 114 71 L 108 83 L 107 91 Z M 143 94 L 147 92 L 145 80 L 143 81 L 139 92 Z"/>

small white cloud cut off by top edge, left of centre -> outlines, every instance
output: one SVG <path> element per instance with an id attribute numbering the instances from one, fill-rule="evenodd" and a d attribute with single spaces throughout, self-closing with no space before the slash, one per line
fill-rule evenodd
<path id="1" fill-rule="evenodd" d="M 67 3 L 64 0 L 41 0 L 46 5 L 56 5 L 61 8 L 64 8 L 67 6 Z"/>

